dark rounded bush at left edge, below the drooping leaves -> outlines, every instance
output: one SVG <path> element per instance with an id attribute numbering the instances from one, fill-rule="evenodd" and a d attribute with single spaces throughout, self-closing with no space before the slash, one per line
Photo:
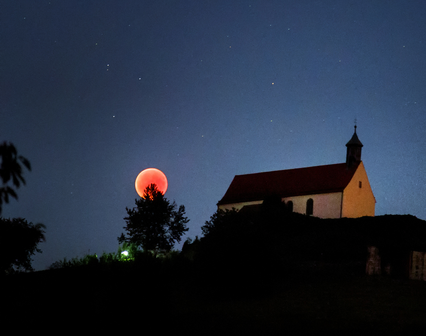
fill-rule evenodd
<path id="1" fill-rule="evenodd" d="M 12 220 L 0 217 L 0 227 L 3 236 L 1 254 L 1 267 L 4 273 L 16 273 L 20 271 L 32 271 L 31 256 L 35 252 L 41 253 L 37 244 L 45 241 L 43 224 L 33 225 L 25 218 L 13 218 Z"/>

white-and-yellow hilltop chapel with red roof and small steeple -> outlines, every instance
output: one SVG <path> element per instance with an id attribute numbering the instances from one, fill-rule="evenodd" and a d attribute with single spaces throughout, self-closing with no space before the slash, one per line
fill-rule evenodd
<path id="1" fill-rule="evenodd" d="M 346 144 L 345 163 L 235 175 L 217 203 L 218 210 L 241 210 L 278 195 L 289 210 L 305 215 L 374 216 L 376 200 L 361 161 L 362 147 L 355 125 L 354 135 Z"/>

